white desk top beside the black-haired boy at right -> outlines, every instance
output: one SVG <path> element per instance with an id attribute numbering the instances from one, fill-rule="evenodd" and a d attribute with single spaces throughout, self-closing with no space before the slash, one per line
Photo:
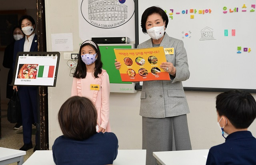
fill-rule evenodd
<path id="1" fill-rule="evenodd" d="M 209 149 L 153 152 L 162 165 L 205 165 Z"/>

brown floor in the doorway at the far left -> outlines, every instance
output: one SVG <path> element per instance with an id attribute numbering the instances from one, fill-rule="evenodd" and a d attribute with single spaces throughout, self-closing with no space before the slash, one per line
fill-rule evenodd
<path id="1" fill-rule="evenodd" d="M 7 120 L 7 104 L 8 103 L 6 102 L 1 102 L 2 138 L 0 139 L 0 147 L 20 149 L 20 147 L 22 147 L 23 145 L 22 128 L 18 130 L 14 130 L 13 127 L 15 124 L 12 124 Z M 33 148 L 26 151 L 26 155 L 24 155 L 24 161 L 26 161 L 33 153 L 33 149 L 35 145 L 35 133 L 36 133 L 36 128 L 33 127 L 32 129 Z M 17 165 L 17 163 L 12 163 L 10 165 Z"/>

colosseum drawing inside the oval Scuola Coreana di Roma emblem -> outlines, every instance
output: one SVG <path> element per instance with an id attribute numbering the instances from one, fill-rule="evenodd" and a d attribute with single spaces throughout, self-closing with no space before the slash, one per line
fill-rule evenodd
<path id="1" fill-rule="evenodd" d="M 127 6 L 118 0 L 88 0 L 90 20 L 112 21 L 127 18 Z"/>

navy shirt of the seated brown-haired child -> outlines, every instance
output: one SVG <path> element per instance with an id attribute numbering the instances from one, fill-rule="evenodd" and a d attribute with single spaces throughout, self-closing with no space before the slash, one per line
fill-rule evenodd
<path id="1" fill-rule="evenodd" d="M 118 140 L 114 133 L 96 133 L 88 139 L 78 141 L 64 135 L 52 146 L 56 165 L 108 165 L 117 156 Z"/>

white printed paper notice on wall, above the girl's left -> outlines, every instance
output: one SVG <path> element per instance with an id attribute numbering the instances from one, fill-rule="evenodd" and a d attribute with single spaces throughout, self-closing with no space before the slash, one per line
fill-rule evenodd
<path id="1" fill-rule="evenodd" d="M 52 34 L 52 51 L 73 51 L 73 34 L 59 33 Z"/>

